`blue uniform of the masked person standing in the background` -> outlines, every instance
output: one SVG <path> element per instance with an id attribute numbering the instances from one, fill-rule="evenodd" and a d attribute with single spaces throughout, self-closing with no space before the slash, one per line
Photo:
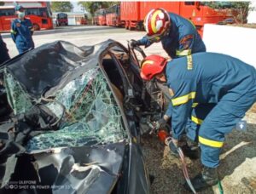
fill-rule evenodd
<path id="1" fill-rule="evenodd" d="M 34 48 L 31 20 L 13 20 L 11 25 L 11 37 L 13 38 L 17 48 Z"/>

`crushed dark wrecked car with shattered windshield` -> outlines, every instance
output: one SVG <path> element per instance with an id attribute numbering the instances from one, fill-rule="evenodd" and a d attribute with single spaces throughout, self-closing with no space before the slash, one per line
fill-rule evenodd
<path id="1" fill-rule="evenodd" d="M 165 105 L 134 52 L 59 41 L 0 72 L 2 192 L 150 193 L 140 134 Z"/>

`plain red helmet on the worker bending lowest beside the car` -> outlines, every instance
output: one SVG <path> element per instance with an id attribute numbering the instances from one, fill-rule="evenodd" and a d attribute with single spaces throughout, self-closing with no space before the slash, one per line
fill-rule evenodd
<path id="1" fill-rule="evenodd" d="M 154 76 L 164 71 L 166 63 L 166 58 L 160 55 L 147 56 L 141 63 L 141 77 L 144 80 L 151 80 Z"/>

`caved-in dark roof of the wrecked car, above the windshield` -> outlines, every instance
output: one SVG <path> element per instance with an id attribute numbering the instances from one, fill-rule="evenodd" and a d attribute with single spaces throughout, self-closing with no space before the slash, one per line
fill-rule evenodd
<path id="1" fill-rule="evenodd" d="M 45 94 L 47 97 L 84 71 L 97 66 L 101 54 L 113 44 L 121 45 L 111 39 L 82 48 L 64 41 L 47 43 L 9 60 L 4 67 L 29 95 L 39 98 L 49 90 Z"/>

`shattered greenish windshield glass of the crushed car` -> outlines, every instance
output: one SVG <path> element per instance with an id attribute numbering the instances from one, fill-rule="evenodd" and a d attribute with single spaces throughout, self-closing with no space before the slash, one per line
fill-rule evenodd
<path id="1" fill-rule="evenodd" d="M 32 106 L 10 74 L 6 76 L 6 85 L 16 114 Z M 26 145 L 27 151 L 115 143 L 126 137 L 119 106 L 98 67 L 67 83 L 46 106 L 61 119 L 61 127 L 34 136 Z"/>

